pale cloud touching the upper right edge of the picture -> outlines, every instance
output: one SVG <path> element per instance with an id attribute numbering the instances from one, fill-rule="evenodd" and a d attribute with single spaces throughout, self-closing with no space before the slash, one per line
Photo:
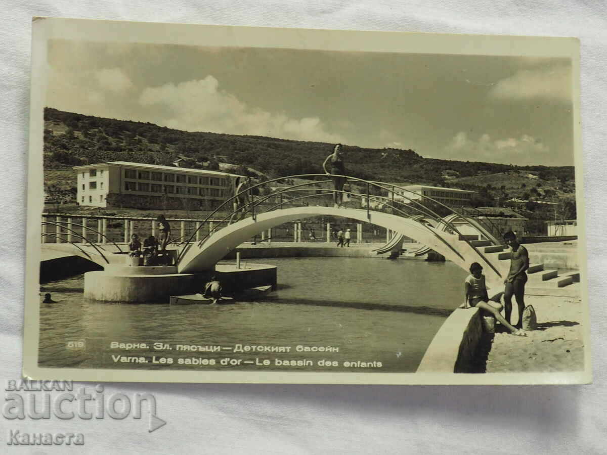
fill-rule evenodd
<path id="1" fill-rule="evenodd" d="M 493 99 L 554 99 L 571 101 L 571 67 L 518 70 L 489 90 Z"/>

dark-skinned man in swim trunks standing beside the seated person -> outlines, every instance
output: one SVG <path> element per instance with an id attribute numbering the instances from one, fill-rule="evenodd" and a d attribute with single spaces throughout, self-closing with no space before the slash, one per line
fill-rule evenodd
<path id="1" fill-rule="evenodd" d="M 510 322 L 512 314 L 512 295 L 517 300 L 518 322 L 515 327 L 523 326 L 523 311 L 525 309 L 525 283 L 527 283 L 526 270 L 529 268 L 529 252 L 518 243 L 517 235 L 509 231 L 504 234 L 504 241 L 510 247 L 510 271 L 504 280 L 506 289 L 504 289 L 504 313 L 506 319 Z"/>

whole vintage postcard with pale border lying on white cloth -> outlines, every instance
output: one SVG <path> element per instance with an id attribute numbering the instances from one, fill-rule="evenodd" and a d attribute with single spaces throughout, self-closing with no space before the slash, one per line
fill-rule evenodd
<path id="1" fill-rule="evenodd" d="M 591 381 L 574 38 L 33 22 L 24 375 Z"/>

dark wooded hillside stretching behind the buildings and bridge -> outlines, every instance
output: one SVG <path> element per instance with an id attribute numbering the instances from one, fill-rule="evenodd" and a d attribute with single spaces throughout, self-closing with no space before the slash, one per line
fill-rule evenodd
<path id="1" fill-rule="evenodd" d="M 198 169 L 230 169 L 269 178 L 322 174 L 334 144 L 266 136 L 185 132 L 152 123 L 44 110 L 44 171 L 48 194 L 75 193 L 72 166 L 104 161 Z M 478 192 L 478 205 L 509 197 L 558 198 L 575 193 L 574 167 L 424 158 L 414 150 L 345 144 L 348 174 L 370 180 L 458 187 Z M 63 197 L 62 196 L 62 197 Z M 499 202 L 497 202 L 499 203 Z"/>

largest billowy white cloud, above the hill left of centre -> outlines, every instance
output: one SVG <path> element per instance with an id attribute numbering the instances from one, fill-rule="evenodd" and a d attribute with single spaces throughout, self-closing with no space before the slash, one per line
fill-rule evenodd
<path id="1" fill-rule="evenodd" d="M 149 121 L 175 129 L 273 136 L 294 140 L 343 142 L 328 132 L 319 117 L 289 118 L 247 106 L 220 89 L 212 75 L 179 84 L 147 87 L 139 103 L 149 108 Z"/>

